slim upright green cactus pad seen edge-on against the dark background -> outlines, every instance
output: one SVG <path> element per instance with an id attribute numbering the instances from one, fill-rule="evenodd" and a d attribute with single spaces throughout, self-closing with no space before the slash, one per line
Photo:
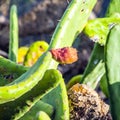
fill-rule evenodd
<path id="1" fill-rule="evenodd" d="M 17 62 L 18 55 L 18 17 L 17 7 L 13 5 L 10 11 L 10 44 L 9 59 Z"/>

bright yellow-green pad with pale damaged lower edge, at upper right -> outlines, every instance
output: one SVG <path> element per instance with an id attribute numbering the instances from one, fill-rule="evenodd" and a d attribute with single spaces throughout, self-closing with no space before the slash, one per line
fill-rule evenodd
<path id="1" fill-rule="evenodd" d="M 110 29 L 118 23 L 120 23 L 120 15 L 89 20 L 84 29 L 84 33 L 92 41 L 98 42 L 100 45 L 105 45 Z"/>

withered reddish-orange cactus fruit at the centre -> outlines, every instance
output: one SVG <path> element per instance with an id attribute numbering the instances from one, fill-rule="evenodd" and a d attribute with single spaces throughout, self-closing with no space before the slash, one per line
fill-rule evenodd
<path id="1" fill-rule="evenodd" d="M 71 64 L 78 60 L 77 50 L 72 47 L 64 47 L 50 50 L 52 57 L 61 64 Z"/>

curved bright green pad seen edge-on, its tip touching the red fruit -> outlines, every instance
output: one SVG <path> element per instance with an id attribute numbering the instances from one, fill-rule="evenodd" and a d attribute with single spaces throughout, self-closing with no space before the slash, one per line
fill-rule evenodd
<path id="1" fill-rule="evenodd" d="M 51 53 L 45 53 L 27 72 L 10 84 L 1 86 L 0 104 L 12 101 L 31 90 L 42 79 L 50 63 L 49 58 L 52 58 Z"/>

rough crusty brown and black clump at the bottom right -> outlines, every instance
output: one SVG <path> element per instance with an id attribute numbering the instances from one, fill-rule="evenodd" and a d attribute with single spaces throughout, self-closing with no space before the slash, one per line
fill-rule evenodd
<path id="1" fill-rule="evenodd" d="M 109 105 L 96 91 L 84 84 L 75 84 L 68 90 L 70 120 L 112 120 Z"/>

